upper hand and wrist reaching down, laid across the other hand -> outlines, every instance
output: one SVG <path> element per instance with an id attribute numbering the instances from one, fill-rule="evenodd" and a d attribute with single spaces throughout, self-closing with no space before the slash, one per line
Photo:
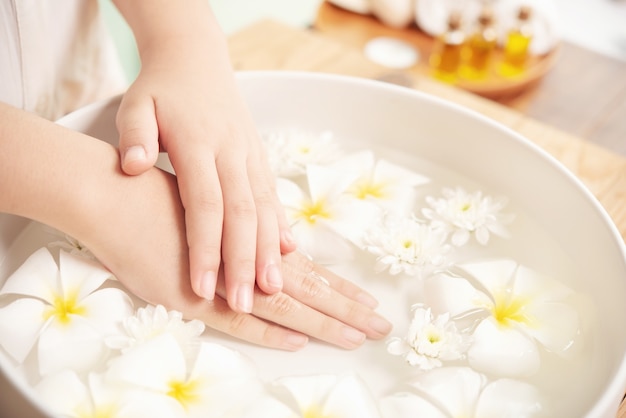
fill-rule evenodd
<path id="1" fill-rule="evenodd" d="M 190 280 L 207 300 L 251 312 L 256 285 L 282 289 L 281 253 L 295 249 L 226 40 L 206 0 L 116 1 L 141 55 L 117 126 L 122 169 L 141 174 L 167 151 L 185 208 Z"/>

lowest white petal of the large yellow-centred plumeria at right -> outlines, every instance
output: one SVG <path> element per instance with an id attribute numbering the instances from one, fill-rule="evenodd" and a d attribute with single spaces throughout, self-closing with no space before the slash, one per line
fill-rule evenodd
<path id="1" fill-rule="evenodd" d="M 467 357 L 473 368 L 495 376 L 532 376 L 541 363 L 530 337 L 515 328 L 499 326 L 492 317 L 474 331 L 474 344 Z"/>

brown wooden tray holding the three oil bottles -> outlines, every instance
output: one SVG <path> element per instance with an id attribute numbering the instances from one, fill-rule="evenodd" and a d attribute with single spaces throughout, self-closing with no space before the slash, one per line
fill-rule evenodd
<path id="1" fill-rule="evenodd" d="M 314 29 L 361 51 L 371 39 L 379 36 L 402 40 L 412 45 L 420 55 L 419 61 L 407 71 L 432 76 L 428 58 L 433 49 L 433 38 L 415 24 L 405 29 L 391 28 L 374 16 L 353 13 L 323 2 L 318 9 Z M 497 50 L 493 57 L 492 69 L 486 78 L 481 80 L 458 78 L 453 84 L 490 99 L 515 96 L 537 83 L 550 71 L 558 57 L 558 48 L 546 55 L 529 57 L 526 70 L 515 77 L 503 77 L 498 74 L 496 67 L 502 56 L 502 51 Z"/>

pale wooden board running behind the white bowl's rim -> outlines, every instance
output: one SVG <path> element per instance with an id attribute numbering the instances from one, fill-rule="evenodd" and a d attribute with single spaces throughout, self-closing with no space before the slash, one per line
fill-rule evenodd
<path id="1" fill-rule="evenodd" d="M 413 88 L 467 106 L 518 131 L 560 160 L 598 198 L 626 238 L 626 157 L 594 142 L 539 122 L 513 105 L 507 107 L 424 75 L 389 71 L 368 59 L 361 49 L 337 41 L 319 31 L 293 28 L 263 20 L 232 35 L 231 59 L 236 70 L 300 70 L 352 75 L 375 79 L 400 80 Z M 557 74 L 557 73 L 555 73 Z M 626 79 L 625 79 L 626 82 Z M 545 82 L 543 83 L 545 84 Z M 544 94 L 533 93 L 533 109 L 541 109 Z M 567 107 L 568 97 L 562 97 Z M 530 103 L 525 99 L 525 103 Z M 619 103 L 626 114 L 624 101 Z M 512 108 L 513 107 L 513 108 Z M 547 112 L 547 110 L 546 110 Z M 548 112 L 549 113 L 549 112 Z M 557 112 L 558 113 L 558 112 Z M 558 116 L 558 115 L 557 115 Z M 610 118 L 610 116 L 607 116 Z M 576 119 L 574 119 L 575 121 Z M 626 418 L 622 404 L 619 418 Z"/>

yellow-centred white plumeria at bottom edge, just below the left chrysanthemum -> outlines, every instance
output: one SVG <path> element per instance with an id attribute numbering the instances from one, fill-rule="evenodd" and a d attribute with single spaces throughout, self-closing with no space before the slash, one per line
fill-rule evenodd
<path id="1" fill-rule="evenodd" d="M 256 369 L 240 353 L 202 342 L 189 361 L 172 334 L 162 334 L 114 358 L 107 381 L 152 396 L 168 417 L 224 417 L 242 396 L 262 391 Z"/>

